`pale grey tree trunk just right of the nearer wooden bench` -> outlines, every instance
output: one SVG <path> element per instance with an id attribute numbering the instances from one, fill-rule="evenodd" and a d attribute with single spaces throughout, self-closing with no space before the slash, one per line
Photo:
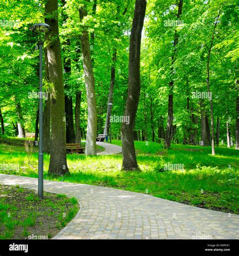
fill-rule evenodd
<path id="1" fill-rule="evenodd" d="M 80 20 L 87 15 L 85 9 L 79 10 Z M 85 74 L 86 96 L 88 105 L 88 120 L 86 134 L 86 155 L 96 155 L 96 133 L 97 133 L 97 110 L 95 99 L 95 80 L 90 59 L 89 34 L 87 30 L 82 31 L 81 49 L 83 68 Z"/>

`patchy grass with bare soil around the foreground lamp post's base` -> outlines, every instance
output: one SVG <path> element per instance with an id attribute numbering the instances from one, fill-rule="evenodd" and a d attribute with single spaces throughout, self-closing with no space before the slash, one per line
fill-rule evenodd
<path id="1" fill-rule="evenodd" d="M 0 239 L 50 239 L 79 210 L 77 199 L 0 185 Z"/>

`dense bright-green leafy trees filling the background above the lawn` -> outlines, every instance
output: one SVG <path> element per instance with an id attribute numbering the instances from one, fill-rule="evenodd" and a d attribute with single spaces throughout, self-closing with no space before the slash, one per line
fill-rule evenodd
<path id="1" fill-rule="evenodd" d="M 63 103 L 54 109 L 51 87 L 54 70 L 51 67 L 49 71 L 45 65 L 44 88 L 52 98 L 45 101 L 44 150 L 50 152 L 47 142 L 50 133 L 53 136 L 55 122 L 61 122 L 56 124 L 61 126 L 57 128 L 57 137 L 67 139 L 68 136 L 69 142 L 79 143 L 87 137 L 88 120 L 92 116 L 93 129 L 88 129 L 88 135 L 92 132 L 92 145 L 87 140 L 86 152 L 95 154 L 96 134 L 108 133 L 109 116 L 123 116 L 129 101 L 130 37 L 136 1 L 64 0 L 55 3 L 58 9 L 50 17 L 45 16 L 42 1 L 21 2 L 18 6 L 7 1 L 0 6 L 3 17 L 0 27 L 1 131 L 7 136 L 35 132 L 38 99 L 32 97 L 32 92 L 38 91 L 39 53 L 28 28 L 44 18 L 53 22 L 57 13 L 59 30 L 51 39 L 58 44 L 59 66 L 55 79 L 61 80 L 58 84 L 64 81 L 64 92 L 62 85 L 57 92 L 65 99 L 67 115 L 64 122 Z M 79 10 L 87 11 L 82 20 Z M 129 108 L 133 112 L 137 110 L 130 138 L 133 136 L 134 140 L 145 143 L 162 142 L 168 147 L 170 143 L 213 146 L 214 133 L 216 145 L 237 145 L 238 149 L 237 19 L 238 10 L 230 0 L 152 0 L 147 3 L 140 50 L 141 94 L 138 110 Z M 88 41 L 86 48 L 82 39 Z M 52 50 L 47 42 L 45 49 Z M 47 57 L 46 52 L 45 63 L 50 62 Z M 88 74 L 93 90 L 90 93 L 95 94 L 95 98 L 89 98 L 85 89 Z M 169 87 L 172 81 L 173 87 Z M 210 99 L 205 97 L 208 85 L 213 109 Z M 169 106 L 170 95 L 173 101 Z M 133 97 L 138 101 L 138 94 Z M 92 114 L 88 109 L 91 101 Z M 112 108 L 108 107 L 111 102 Z M 121 125 L 111 123 L 113 139 L 125 140 L 124 136 L 121 138 Z M 122 129 L 124 131 L 124 124 Z M 64 140 L 61 139 L 61 147 Z M 132 148 L 132 140 L 130 143 Z"/>

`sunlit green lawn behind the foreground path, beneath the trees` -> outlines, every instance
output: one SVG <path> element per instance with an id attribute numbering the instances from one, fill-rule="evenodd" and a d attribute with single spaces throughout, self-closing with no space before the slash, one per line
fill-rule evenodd
<path id="1" fill-rule="evenodd" d="M 121 145 L 120 141 L 113 144 Z M 156 197 L 238 214 L 239 152 L 225 147 L 172 145 L 136 142 L 140 172 L 121 170 L 122 155 L 85 156 L 68 154 L 71 175 L 52 178 L 47 174 L 49 155 L 44 155 L 44 178 L 66 182 L 113 187 Z M 24 146 L 0 144 L 0 163 L 17 163 L 19 169 L 1 173 L 37 177 L 37 148 L 28 160 Z M 165 170 L 164 163 L 184 164 L 184 169 Z"/>

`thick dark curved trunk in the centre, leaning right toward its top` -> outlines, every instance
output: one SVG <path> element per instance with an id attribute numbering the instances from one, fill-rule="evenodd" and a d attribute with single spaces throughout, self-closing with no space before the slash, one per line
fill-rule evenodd
<path id="1" fill-rule="evenodd" d="M 140 97 L 140 46 L 145 10 L 146 1 L 136 0 L 130 35 L 129 87 L 124 112 L 124 116 L 129 116 L 130 122 L 129 124 L 123 122 L 121 125 L 122 169 L 124 170 L 134 170 L 138 168 L 133 131 Z"/>

